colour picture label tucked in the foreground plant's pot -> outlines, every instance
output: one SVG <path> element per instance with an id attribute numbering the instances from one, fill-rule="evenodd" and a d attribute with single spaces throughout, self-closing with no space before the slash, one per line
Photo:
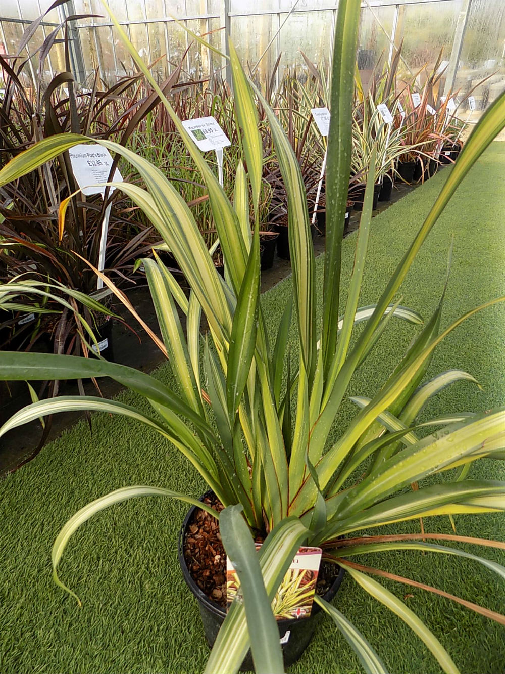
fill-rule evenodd
<path id="1" fill-rule="evenodd" d="M 261 543 L 256 543 L 256 550 Z M 301 547 L 273 598 L 272 611 L 276 620 L 304 618 L 312 611 L 314 592 L 323 551 L 318 547 Z M 226 610 L 240 587 L 240 580 L 230 557 L 226 557 Z M 288 636 L 289 639 L 289 636 Z"/>

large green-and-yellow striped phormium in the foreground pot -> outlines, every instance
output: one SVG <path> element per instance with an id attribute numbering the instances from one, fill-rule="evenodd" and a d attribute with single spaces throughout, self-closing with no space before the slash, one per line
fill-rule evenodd
<path id="1" fill-rule="evenodd" d="M 432 537 L 429 532 L 417 537 L 399 534 L 393 539 L 360 535 L 365 528 L 411 518 L 505 509 L 505 483 L 466 479 L 467 468 L 472 462 L 485 456 L 504 457 L 504 408 L 485 414 L 452 415 L 424 424 L 416 422 L 430 396 L 451 381 L 472 378 L 464 372 L 448 371 L 419 386 L 434 348 L 466 317 L 498 299 L 469 311 L 439 334 L 440 303 L 405 357 L 395 364 L 381 390 L 371 400 L 354 398 L 360 407 L 356 417 L 332 446 L 326 446 L 335 415 L 349 395 L 349 381 L 388 322 L 394 316 L 413 324 L 420 321 L 414 311 L 401 307 L 395 297 L 419 247 L 451 195 L 504 127 L 505 97 L 498 98 L 490 106 L 473 131 L 377 304 L 358 309 L 372 210 L 372 164 L 356 241 L 354 271 L 343 317 L 339 318 L 341 240 L 351 155 L 352 87 L 360 1 L 340 0 L 338 11 L 327 168 L 322 324 L 316 320 L 314 253 L 298 163 L 275 115 L 244 75 L 233 45 L 230 44 L 230 59 L 248 173 L 239 164 L 232 206 L 182 129 L 170 102 L 157 88 L 111 15 L 116 30 L 151 86 L 156 88 L 201 171 L 224 253 L 226 281 L 215 271 L 191 211 L 164 175 L 141 156 L 100 140 L 108 150 L 119 152 L 131 162 L 143 178 L 145 189 L 129 183 L 116 187 L 123 189 L 156 226 L 191 286 L 191 295 L 187 299 L 162 264 L 145 260 L 163 337 L 160 348 L 168 356 L 178 390 L 170 390 L 157 379 L 135 369 L 99 359 L 42 357 L 34 353 L 0 354 L 3 379 L 109 376 L 145 396 L 152 408 L 148 416 L 114 400 L 59 398 L 24 408 L 3 426 L 0 433 L 63 410 L 85 408 L 125 415 L 143 421 L 172 442 L 191 460 L 226 506 L 220 514 L 220 529 L 226 550 L 238 569 L 242 594 L 232 605 L 217 636 L 207 673 L 237 671 L 249 646 L 257 671 L 283 671 L 269 602 L 294 553 L 305 543 L 321 545 L 327 553 L 333 554 L 335 563 L 345 565 L 358 585 L 414 630 L 442 669 L 450 674 L 456 673 L 457 668 L 428 627 L 397 596 L 365 574 L 360 565 L 349 561 L 349 557 L 391 549 L 429 550 L 474 559 L 505 578 L 505 568 L 497 563 L 429 542 L 434 538 L 437 541 L 443 539 L 440 534 L 437 537 Z M 248 214 L 248 190 L 257 212 L 261 185 L 262 148 L 257 131 L 255 96 L 269 119 L 288 194 L 294 303 L 293 307 L 286 307 L 273 345 L 267 340 L 259 303 L 259 228 L 257 223 L 251 234 Z M 81 135 L 68 134 L 53 136 L 34 145 L 3 168 L 0 185 L 86 140 Z M 64 211 L 65 204 L 61 208 L 62 218 Z M 186 336 L 178 308 L 187 316 Z M 209 326 L 205 337 L 199 330 L 202 312 Z M 283 365 L 292 318 L 298 332 L 300 358 L 298 371 L 288 371 L 285 384 Z M 364 321 L 364 327 L 351 344 L 357 321 Z M 422 427 L 429 429 L 430 425 L 442 430 L 422 437 Z M 459 468 L 452 480 L 445 480 L 436 487 L 424 486 L 424 478 L 448 468 Z M 352 473 L 362 476 L 358 482 L 349 482 Z M 413 483 L 418 483 L 419 488 L 409 491 L 408 487 Z M 59 584 L 57 565 L 79 524 L 113 503 L 141 495 L 168 495 L 195 503 L 191 497 L 166 487 L 141 486 L 119 489 L 90 503 L 67 522 L 55 541 L 53 567 Z M 251 530 L 268 534 L 258 555 Z M 447 541 L 463 540 L 456 535 L 446 538 Z M 492 544 L 503 547 L 500 543 Z M 345 638 L 354 646 L 364 669 L 385 672 L 380 658 L 356 627 L 322 599 L 316 598 L 316 601 L 332 615 Z M 487 609 L 476 605 L 473 608 L 488 617 L 505 620 Z"/>

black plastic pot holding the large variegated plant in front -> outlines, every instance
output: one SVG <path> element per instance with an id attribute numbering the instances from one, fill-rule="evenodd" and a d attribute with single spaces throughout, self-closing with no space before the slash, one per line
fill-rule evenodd
<path id="1" fill-rule="evenodd" d="M 205 496 L 209 495 L 210 493 L 211 492 L 207 492 L 204 494 L 200 500 L 203 500 Z M 220 605 L 217 605 L 215 602 L 211 601 L 207 595 L 202 592 L 199 586 L 197 586 L 193 580 L 193 577 L 191 576 L 191 573 L 189 572 L 189 569 L 187 568 L 186 561 L 184 559 L 183 543 L 189 528 L 189 523 L 193 519 L 195 510 L 196 506 L 193 505 L 187 516 L 184 518 L 184 522 L 182 523 L 182 527 L 180 528 L 179 532 L 177 554 L 180 568 L 182 570 L 182 576 L 184 576 L 184 580 L 187 582 L 189 589 L 191 592 L 193 592 L 193 595 L 197 599 L 207 643 L 210 647 L 212 647 L 215 642 L 215 638 L 217 637 L 217 632 L 219 632 L 220 627 L 226 617 L 226 611 Z M 340 587 L 344 573 L 345 572 L 343 568 L 340 568 L 339 574 L 337 578 L 335 578 L 333 585 L 323 596 L 325 601 L 331 601 L 335 594 L 337 594 L 337 590 Z M 308 644 L 310 644 L 312 636 L 314 636 L 314 630 L 316 628 L 319 613 L 321 613 L 321 608 L 316 603 L 314 603 L 312 604 L 312 613 L 310 613 L 309 617 L 277 621 L 279 639 L 282 642 L 282 655 L 285 667 L 290 667 L 290 665 L 296 663 L 296 661 L 302 656 L 302 653 L 307 648 Z M 252 669 L 253 658 L 249 650 L 244 658 L 242 667 L 240 667 L 240 671 L 251 671 Z"/>

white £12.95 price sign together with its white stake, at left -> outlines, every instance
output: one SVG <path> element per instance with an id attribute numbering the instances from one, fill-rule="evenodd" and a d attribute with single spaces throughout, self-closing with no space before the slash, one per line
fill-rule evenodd
<path id="1" fill-rule="evenodd" d="M 102 199 L 105 195 L 106 185 L 97 183 L 106 183 L 110 168 L 112 168 L 112 156 L 110 152 L 101 145 L 79 144 L 73 146 L 69 150 L 70 163 L 72 166 L 73 175 L 79 185 L 79 189 L 83 194 L 101 194 Z M 114 171 L 112 178 L 114 183 L 122 183 L 123 176 L 119 173 L 119 169 Z M 114 191 L 115 187 L 110 187 L 110 191 Z M 108 234 L 108 220 L 110 218 L 110 209 L 112 204 L 109 204 L 105 209 L 105 216 L 102 222 L 102 233 L 100 235 L 100 249 L 98 251 L 98 271 L 102 272 L 105 266 L 105 249 L 107 245 Z M 96 282 L 97 290 L 104 287 L 104 282 L 98 278 Z"/>

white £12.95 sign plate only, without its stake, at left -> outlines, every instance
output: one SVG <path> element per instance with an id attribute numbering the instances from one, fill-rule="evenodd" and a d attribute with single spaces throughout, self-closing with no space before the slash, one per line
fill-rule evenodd
<path id="1" fill-rule="evenodd" d="M 69 157 L 73 175 L 81 192 L 86 195 L 101 194 L 103 197 L 105 185 L 99 183 L 107 182 L 112 166 L 110 152 L 102 148 L 101 145 L 80 144 L 70 148 Z M 114 171 L 112 182 L 123 182 L 123 177 L 118 168 Z M 114 187 L 110 187 L 110 191 L 114 189 Z"/>

